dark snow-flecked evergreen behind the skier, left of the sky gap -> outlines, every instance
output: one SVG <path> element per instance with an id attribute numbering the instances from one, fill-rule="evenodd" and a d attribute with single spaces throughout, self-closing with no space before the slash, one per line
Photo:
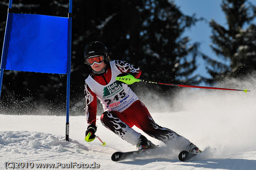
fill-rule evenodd
<path id="1" fill-rule="evenodd" d="M 191 75 L 197 68 L 198 43 L 189 44 L 189 37 L 182 35 L 198 19 L 184 15 L 168 0 L 148 0 L 143 12 L 146 15 L 140 32 L 143 44 L 140 58 L 148 77 L 165 82 L 197 82 L 198 76 Z"/>

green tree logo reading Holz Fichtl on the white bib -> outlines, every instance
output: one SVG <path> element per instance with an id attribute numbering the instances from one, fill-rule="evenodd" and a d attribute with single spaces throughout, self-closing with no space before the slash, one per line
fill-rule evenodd
<path id="1" fill-rule="evenodd" d="M 110 98 L 113 95 L 116 95 L 118 92 L 120 92 L 123 89 L 123 86 L 121 83 L 115 81 L 109 86 L 104 87 L 103 89 L 103 98 Z"/>

